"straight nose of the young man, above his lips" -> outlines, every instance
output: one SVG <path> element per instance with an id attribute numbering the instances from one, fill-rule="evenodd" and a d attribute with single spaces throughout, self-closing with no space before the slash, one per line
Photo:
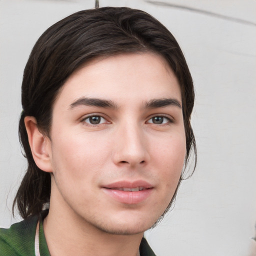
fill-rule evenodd
<path id="1" fill-rule="evenodd" d="M 149 161 L 148 141 L 142 127 L 134 123 L 116 130 L 113 161 L 117 165 L 136 167 Z"/>

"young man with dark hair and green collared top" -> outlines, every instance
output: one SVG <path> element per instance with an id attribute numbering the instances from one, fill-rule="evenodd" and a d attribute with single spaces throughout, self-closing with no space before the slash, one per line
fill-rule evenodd
<path id="1" fill-rule="evenodd" d="M 154 255 L 143 232 L 195 150 L 193 100 L 176 40 L 143 11 L 84 10 L 48 28 L 22 82 L 24 220 L 0 229 L 1 255 Z"/>

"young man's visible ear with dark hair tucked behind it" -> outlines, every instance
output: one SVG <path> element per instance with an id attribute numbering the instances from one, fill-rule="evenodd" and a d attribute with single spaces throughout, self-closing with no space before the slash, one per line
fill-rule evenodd
<path id="1" fill-rule="evenodd" d="M 41 170 L 52 172 L 50 139 L 39 131 L 34 116 L 25 116 L 24 123 L 35 164 Z"/>

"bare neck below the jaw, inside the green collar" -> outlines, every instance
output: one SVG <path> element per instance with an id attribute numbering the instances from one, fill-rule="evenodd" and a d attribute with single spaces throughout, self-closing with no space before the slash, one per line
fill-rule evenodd
<path id="1" fill-rule="evenodd" d="M 137 256 L 143 236 L 143 233 L 118 235 L 102 231 L 59 201 L 50 201 L 43 229 L 51 256 Z"/>

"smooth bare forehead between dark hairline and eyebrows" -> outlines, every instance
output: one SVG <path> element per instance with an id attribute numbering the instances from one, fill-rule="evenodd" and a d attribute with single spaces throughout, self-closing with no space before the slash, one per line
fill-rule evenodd
<path id="1" fill-rule="evenodd" d="M 157 54 L 118 54 L 96 58 L 74 71 L 55 101 L 67 107 L 81 96 L 116 102 L 175 97 L 181 102 L 176 76 L 165 59 Z"/>

